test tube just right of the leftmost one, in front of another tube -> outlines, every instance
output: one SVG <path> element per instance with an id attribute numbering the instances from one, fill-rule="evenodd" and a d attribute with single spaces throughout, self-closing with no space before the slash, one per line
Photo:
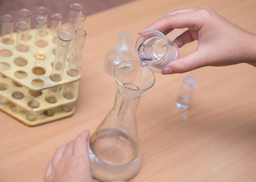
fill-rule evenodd
<path id="1" fill-rule="evenodd" d="M 16 50 L 21 53 L 27 52 L 29 50 L 28 45 L 28 23 L 24 21 L 19 21 L 16 23 L 17 29 L 17 41 L 16 41 Z"/>

